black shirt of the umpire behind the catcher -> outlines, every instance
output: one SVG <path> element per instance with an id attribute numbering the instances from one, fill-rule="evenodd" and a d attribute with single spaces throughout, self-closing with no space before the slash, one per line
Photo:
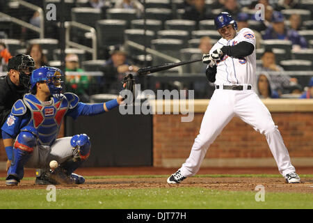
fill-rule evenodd
<path id="1" fill-rule="evenodd" d="M 8 118 L 14 103 L 23 98 L 23 86 L 16 86 L 8 75 L 0 77 L 0 129 Z M 0 139 L 2 138 L 0 130 Z"/>

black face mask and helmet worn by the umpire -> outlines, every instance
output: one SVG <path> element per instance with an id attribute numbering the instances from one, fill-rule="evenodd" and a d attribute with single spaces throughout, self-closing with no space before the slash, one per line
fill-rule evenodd
<path id="1" fill-rule="evenodd" d="M 29 89 L 31 84 L 31 72 L 35 70 L 35 61 L 26 54 L 18 54 L 8 61 L 8 71 L 11 69 L 19 72 L 19 84 Z"/>

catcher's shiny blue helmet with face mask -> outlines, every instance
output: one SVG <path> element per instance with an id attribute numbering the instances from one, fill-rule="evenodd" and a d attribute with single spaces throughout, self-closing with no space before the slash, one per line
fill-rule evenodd
<path id="1" fill-rule="evenodd" d="M 46 82 L 51 95 L 60 95 L 63 89 L 63 72 L 58 68 L 43 66 L 31 73 L 31 90 L 38 82 Z"/>

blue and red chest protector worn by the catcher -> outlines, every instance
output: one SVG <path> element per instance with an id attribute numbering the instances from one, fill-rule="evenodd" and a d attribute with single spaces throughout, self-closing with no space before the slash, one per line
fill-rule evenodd
<path id="1" fill-rule="evenodd" d="M 24 95 L 23 102 L 31 112 L 27 125 L 37 130 L 40 145 L 51 146 L 54 143 L 66 112 L 79 102 L 77 95 L 72 93 L 65 93 L 60 98 L 53 97 L 48 102 L 42 102 L 33 94 Z"/>

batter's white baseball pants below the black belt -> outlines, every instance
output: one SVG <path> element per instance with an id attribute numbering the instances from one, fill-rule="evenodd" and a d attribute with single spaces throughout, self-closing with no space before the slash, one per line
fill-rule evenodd
<path id="1" fill-rule="evenodd" d="M 255 130 L 265 134 L 282 176 L 296 171 L 291 164 L 289 153 L 284 146 L 278 127 L 273 122 L 271 113 L 268 112 L 257 94 L 252 90 L 216 89 L 207 111 L 204 113 L 200 133 L 193 143 L 191 153 L 180 168 L 182 176 L 189 177 L 198 172 L 207 149 L 234 116 L 238 116 L 244 122 L 252 125 Z"/>

